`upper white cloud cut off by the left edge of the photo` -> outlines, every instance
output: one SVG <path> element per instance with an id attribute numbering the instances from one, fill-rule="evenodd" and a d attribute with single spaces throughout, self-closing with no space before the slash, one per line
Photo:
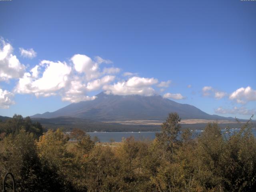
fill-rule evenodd
<path id="1" fill-rule="evenodd" d="M 0 81 L 20 78 L 24 74 L 26 67 L 12 52 L 12 46 L 0 38 Z"/>

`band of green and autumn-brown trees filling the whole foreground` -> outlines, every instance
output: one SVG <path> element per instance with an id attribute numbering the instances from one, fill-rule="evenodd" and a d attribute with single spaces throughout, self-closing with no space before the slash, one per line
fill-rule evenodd
<path id="1" fill-rule="evenodd" d="M 170 113 L 154 140 L 111 146 L 78 128 L 67 135 L 14 115 L 0 122 L 0 181 L 11 172 L 17 192 L 252 192 L 256 138 L 251 119 L 237 126 L 223 135 L 212 122 L 192 138 Z"/>

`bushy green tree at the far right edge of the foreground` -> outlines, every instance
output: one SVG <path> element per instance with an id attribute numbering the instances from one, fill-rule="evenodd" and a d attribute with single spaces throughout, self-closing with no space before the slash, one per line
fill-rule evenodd
<path id="1" fill-rule="evenodd" d="M 239 123 L 240 124 L 240 123 Z M 226 141 L 222 163 L 222 186 L 226 191 L 256 190 L 256 138 L 251 118 Z"/>

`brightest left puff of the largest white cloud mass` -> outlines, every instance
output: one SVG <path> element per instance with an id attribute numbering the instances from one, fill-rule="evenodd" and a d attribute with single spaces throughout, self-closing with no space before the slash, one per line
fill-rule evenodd
<path id="1" fill-rule="evenodd" d="M 43 60 L 40 62 L 40 68 L 45 68 L 42 72 L 42 77 L 37 77 L 38 67 L 33 68 L 33 75 L 25 73 L 20 78 L 15 92 L 21 94 L 35 94 L 38 96 L 51 96 L 55 95 L 56 91 L 64 88 L 68 83 L 68 76 L 71 72 L 71 67 L 65 62 L 52 62 Z M 37 72 L 35 72 L 37 71 Z M 35 74 L 36 73 L 36 74 Z"/>

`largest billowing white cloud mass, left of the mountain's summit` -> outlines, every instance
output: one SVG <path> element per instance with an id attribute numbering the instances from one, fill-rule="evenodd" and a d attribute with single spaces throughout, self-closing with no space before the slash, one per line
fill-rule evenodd
<path id="1" fill-rule="evenodd" d="M 96 97 L 88 96 L 88 92 L 100 90 L 115 78 L 104 74 L 120 71 L 114 67 L 101 71 L 99 63 L 86 55 L 76 54 L 71 61 L 71 66 L 66 62 L 41 61 L 30 72 L 24 73 L 14 91 L 20 94 L 34 94 L 37 97 L 58 94 L 63 101 L 69 102 L 93 100 Z"/>

